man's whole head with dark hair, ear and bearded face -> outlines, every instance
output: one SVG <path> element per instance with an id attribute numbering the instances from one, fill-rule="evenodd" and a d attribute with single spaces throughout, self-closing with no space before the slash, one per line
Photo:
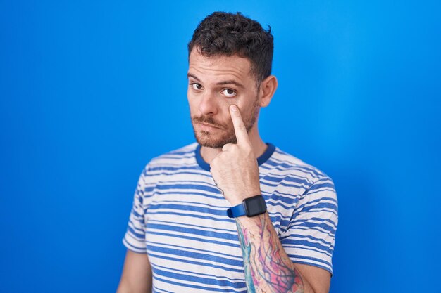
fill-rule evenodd
<path id="1" fill-rule="evenodd" d="M 231 104 L 240 108 L 250 136 L 257 134 L 259 108 L 268 105 L 277 87 L 270 75 L 270 31 L 240 13 L 213 13 L 199 24 L 188 48 L 187 96 L 199 144 L 222 148 L 236 142 Z"/>

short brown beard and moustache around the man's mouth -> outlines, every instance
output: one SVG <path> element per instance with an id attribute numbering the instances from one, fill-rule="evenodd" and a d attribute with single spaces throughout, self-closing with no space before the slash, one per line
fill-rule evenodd
<path id="1" fill-rule="evenodd" d="M 257 120 L 257 116 L 259 115 L 259 97 L 256 97 L 256 100 L 254 100 L 254 103 L 253 105 L 251 105 L 251 107 L 252 108 L 249 117 L 242 116 L 247 132 L 249 132 L 254 126 Z M 199 117 L 192 116 L 191 119 L 194 137 L 196 138 L 196 141 L 199 143 L 199 145 L 206 148 L 222 148 L 227 143 L 237 143 L 235 128 L 232 124 L 231 119 L 228 123 L 218 122 L 211 115 L 203 115 Z M 215 134 L 213 133 L 213 131 L 197 131 L 194 126 L 199 122 L 217 127 L 218 129 L 216 129 L 215 131 L 219 134 Z"/>

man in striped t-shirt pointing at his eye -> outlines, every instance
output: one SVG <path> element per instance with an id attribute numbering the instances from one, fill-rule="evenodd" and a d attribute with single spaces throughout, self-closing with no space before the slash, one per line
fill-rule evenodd
<path id="1" fill-rule="evenodd" d="M 333 182 L 259 136 L 278 85 L 271 31 L 213 13 L 188 48 L 197 143 L 139 177 L 118 292 L 328 292 Z"/>

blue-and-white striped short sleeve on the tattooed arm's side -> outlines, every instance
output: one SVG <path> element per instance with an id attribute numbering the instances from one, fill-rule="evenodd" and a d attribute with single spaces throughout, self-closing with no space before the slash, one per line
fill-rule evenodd
<path id="1" fill-rule="evenodd" d="M 324 268 L 332 275 L 337 221 L 334 183 L 328 177 L 321 178 L 299 199 L 288 229 L 280 235 L 292 262 Z"/>

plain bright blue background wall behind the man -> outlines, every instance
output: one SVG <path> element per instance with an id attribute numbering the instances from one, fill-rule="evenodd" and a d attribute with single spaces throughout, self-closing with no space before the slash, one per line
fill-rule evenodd
<path id="1" fill-rule="evenodd" d="M 0 1 L 1 292 L 114 292 L 137 178 L 194 141 L 187 41 L 271 25 L 265 141 L 330 175 L 331 292 L 441 292 L 440 1 Z"/>

